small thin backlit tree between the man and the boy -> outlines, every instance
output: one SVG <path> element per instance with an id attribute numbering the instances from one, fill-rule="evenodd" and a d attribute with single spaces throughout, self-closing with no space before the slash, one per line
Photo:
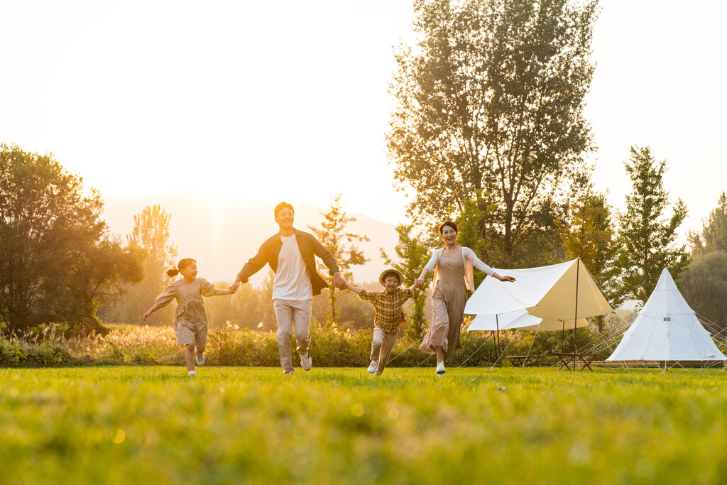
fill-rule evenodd
<path id="1" fill-rule="evenodd" d="M 363 265 L 369 260 L 364 257 L 364 252 L 354 244 L 355 241 L 369 241 L 368 236 L 359 236 L 358 234 L 345 232 L 346 226 L 356 222 L 356 217 L 349 217 L 341 207 L 341 194 L 337 195 L 331 204 L 329 212 L 321 212 L 324 217 L 320 228 L 309 225 L 310 231 L 321 241 L 321 244 L 328 249 L 338 263 L 341 275 L 349 280 L 353 278 L 351 267 Z M 328 268 L 323 262 L 318 261 L 318 272 L 326 275 Z M 331 302 L 331 315 L 329 321 L 337 325 L 337 309 L 336 296 L 337 288 L 333 286 L 333 278 L 330 278 L 328 296 Z"/>

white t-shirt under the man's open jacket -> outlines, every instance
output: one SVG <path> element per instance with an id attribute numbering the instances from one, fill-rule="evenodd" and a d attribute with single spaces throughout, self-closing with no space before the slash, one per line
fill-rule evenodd
<path id="1" fill-rule="evenodd" d="M 278 271 L 273 281 L 273 300 L 312 300 L 313 286 L 295 234 L 280 236 L 280 240 L 283 246 L 278 255 Z"/>

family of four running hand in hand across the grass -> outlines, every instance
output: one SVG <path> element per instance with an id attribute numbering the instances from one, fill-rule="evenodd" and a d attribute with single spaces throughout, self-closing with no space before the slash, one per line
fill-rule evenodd
<path id="1" fill-rule="evenodd" d="M 291 204 L 281 202 L 275 208 L 275 220 L 280 231 L 262 243 L 254 255 L 237 274 L 229 289 L 216 289 L 213 284 L 197 278 L 197 264 L 185 258 L 177 268 L 167 271 L 170 277 L 182 274 L 156 298 L 155 304 L 144 314 L 146 320 L 151 313 L 177 300 L 174 312 L 174 332 L 177 344 L 185 345 L 185 361 L 190 376 L 196 375 L 194 364 L 204 364 L 204 348 L 207 340 L 207 317 L 202 297 L 235 293 L 240 284 L 257 271 L 270 265 L 275 273 L 273 280 L 273 306 L 278 321 L 278 351 L 284 374 L 294 374 L 292 360 L 292 332 L 295 332 L 296 351 L 300 366 L 310 370 L 313 361 L 308 355 L 310 347 L 310 317 L 313 297 L 328 287 L 316 270 L 316 256 L 319 257 L 333 276 L 333 284 L 339 289 L 350 289 L 374 306 L 374 341 L 371 343 L 371 364 L 368 372 L 380 375 L 396 341 L 399 328 L 406 322 L 403 305 L 414 296 L 414 290 L 425 286 L 425 278 L 434 273 L 432 324 L 425 334 L 419 350 L 436 354 L 435 374 L 443 376 L 449 356 L 457 348 L 462 318 L 467 302 L 467 289 L 475 291 L 473 268 L 483 271 L 500 281 L 515 281 L 512 276 L 500 276 L 483 263 L 472 249 L 457 244 L 457 225 L 446 221 L 439 226 L 443 247 L 436 249 L 422 273 L 409 288 L 401 288 L 403 275 L 393 268 L 384 270 L 379 283 L 384 291 L 369 292 L 352 286 L 341 276 L 338 265 L 328 249 L 310 233 L 293 227 L 294 209 Z"/>

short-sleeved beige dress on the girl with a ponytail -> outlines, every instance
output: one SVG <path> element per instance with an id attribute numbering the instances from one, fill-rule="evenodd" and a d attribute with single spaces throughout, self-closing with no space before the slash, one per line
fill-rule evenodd
<path id="1" fill-rule="evenodd" d="M 166 286 L 156 297 L 160 307 L 177 300 L 174 311 L 174 332 L 177 333 L 177 345 L 192 344 L 196 347 L 207 345 L 207 313 L 204 310 L 202 297 L 214 295 L 214 284 L 204 278 L 194 278 L 188 283 L 184 278 Z"/>

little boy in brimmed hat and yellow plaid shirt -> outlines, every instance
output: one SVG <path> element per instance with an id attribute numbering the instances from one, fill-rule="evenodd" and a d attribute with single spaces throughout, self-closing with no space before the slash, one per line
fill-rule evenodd
<path id="1" fill-rule="evenodd" d="M 399 327 L 406 322 L 402 306 L 414 295 L 417 286 L 413 284 L 407 289 L 399 288 L 403 278 L 403 274 L 398 270 L 393 268 L 384 270 L 379 276 L 379 283 L 385 289 L 383 292 L 367 292 L 363 288 L 346 284 L 346 287 L 358 294 L 361 300 L 366 300 L 376 309 L 374 342 L 371 342 L 371 365 L 368 369 L 370 374 L 381 375 L 384 372 Z"/>

